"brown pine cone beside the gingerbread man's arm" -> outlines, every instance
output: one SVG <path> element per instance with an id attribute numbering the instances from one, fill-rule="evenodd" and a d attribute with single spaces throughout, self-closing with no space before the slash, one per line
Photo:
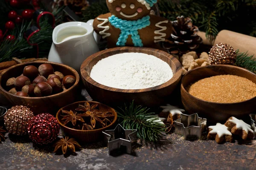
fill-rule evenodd
<path id="1" fill-rule="evenodd" d="M 193 26 L 189 17 L 177 17 L 176 21 L 172 21 L 172 34 L 163 42 L 163 48 L 166 48 L 170 54 L 178 56 L 194 51 L 203 42 L 197 32 L 198 27 Z"/>

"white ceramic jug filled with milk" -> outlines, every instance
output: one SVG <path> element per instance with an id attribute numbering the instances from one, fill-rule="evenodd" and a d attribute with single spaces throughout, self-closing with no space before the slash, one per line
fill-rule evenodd
<path id="1" fill-rule="evenodd" d="M 69 65 L 80 73 L 84 59 L 98 51 L 91 25 L 68 22 L 54 28 L 48 61 Z"/>

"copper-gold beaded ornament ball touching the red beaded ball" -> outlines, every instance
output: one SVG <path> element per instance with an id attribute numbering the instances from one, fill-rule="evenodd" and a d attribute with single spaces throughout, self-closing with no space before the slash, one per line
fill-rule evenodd
<path id="1" fill-rule="evenodd" d="M 9 133 L 15 135 L 26 135 L 28 133 L 26 126 L 34 113 L 26 106 L 13 106 L 8 109 L 4 116 L 4 125 Z"/>

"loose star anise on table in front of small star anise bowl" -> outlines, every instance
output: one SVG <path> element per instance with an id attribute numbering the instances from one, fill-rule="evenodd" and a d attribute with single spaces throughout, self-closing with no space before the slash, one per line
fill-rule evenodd
<path id="1" fill-rule="evenodd" d="M 61 138 L 58 142 L 55 143 L 55 149 L 53 152 L 56 152 L 59 148 L 61 148 L 62 153 L 65 155 L 68 150 L 76 152 L 76 147 L 80 148 L 80 144 L 75 141 L 75 139 L 69 137 Z"/>

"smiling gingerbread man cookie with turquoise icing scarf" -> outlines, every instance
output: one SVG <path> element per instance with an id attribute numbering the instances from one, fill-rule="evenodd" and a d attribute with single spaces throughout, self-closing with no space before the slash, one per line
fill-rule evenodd
<path id="1" fill-rule="evenodd" d="M 150 14 L 157 0 L 106 0 L 110 13 L 93 21 L 96 33 L 116 46 L 156 47 L 172 33 L 172 23 Z"/>

